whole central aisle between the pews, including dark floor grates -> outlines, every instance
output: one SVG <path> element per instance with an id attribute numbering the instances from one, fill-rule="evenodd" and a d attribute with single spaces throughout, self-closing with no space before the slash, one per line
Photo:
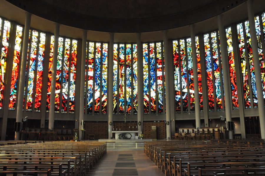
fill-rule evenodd
<path id="1" fill-rule="evenodd" d="M 128 172 L 132 175 L 136 175 L 138 173 L 139 176 L 165 175 L 142 150 L 107 151 L 107 154 L 100 160 L 100 162 L 92 170 L 90 170 L 89 176 L 123 176 Z"/>

